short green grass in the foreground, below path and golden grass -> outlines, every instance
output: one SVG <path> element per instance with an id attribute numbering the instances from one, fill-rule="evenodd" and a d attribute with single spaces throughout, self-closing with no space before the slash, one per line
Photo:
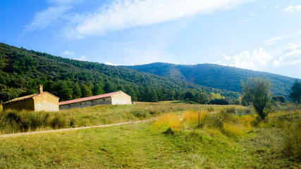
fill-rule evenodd
<path id="1" fill-rule="evenodd" d="M 240 168 L 243 146 L 199 131 L 166 135 L 146 123 L 1 139 L 8 168 Z"/>

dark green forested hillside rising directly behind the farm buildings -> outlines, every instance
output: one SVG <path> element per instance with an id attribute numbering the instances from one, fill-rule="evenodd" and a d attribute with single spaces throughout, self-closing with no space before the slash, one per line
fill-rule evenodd
<path id="1" fill-rule="evenodd" d="M 117 90 L 133 101 L 188 100 L 207 103 L 210 99 L 238 99 L 238 92 L 204 87 L 181 79 L 87 61 L 52 56 L 39 51 L 0 43 L 0 104 L 44 91 L 60 101 L 78 99 Z"/>

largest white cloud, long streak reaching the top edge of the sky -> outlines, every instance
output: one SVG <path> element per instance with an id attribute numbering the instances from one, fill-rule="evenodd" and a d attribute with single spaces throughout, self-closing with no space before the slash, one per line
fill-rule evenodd
<path id="1" fill-rule="evenodd" d="M 82 39 L 90 35 L 104 35 L 129 27 L 226 10 L 248 1 L 252 0 L 118 0 L 94 13 L 81 15 L 78 21 L 63 29 L 62 36 Z"/>

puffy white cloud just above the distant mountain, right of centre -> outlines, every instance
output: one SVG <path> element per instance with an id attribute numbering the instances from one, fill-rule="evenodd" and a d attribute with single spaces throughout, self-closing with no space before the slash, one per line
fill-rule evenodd
<path id="1" fill-rule="evenodd" d="M 254 49 L 252 54 L 250 51 L 243 51 L 239 55 L 232 57 L 224 54 L 223 59 L 216 63 L 230 65 L 236 68 L 257 70 L 259 67 L 266 65 L 272 58 L 273 57 L 267 54 L 263 48 L 260 48 L 259 50 Z"/>

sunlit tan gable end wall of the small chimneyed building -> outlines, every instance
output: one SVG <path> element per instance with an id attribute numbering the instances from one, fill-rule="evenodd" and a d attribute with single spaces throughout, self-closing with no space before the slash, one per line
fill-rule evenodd
<path id="1" fill-rule="evenodd" d="M 34 97 L 35 111 L 59 111 L 59 98 L 44 92 Z"/>

